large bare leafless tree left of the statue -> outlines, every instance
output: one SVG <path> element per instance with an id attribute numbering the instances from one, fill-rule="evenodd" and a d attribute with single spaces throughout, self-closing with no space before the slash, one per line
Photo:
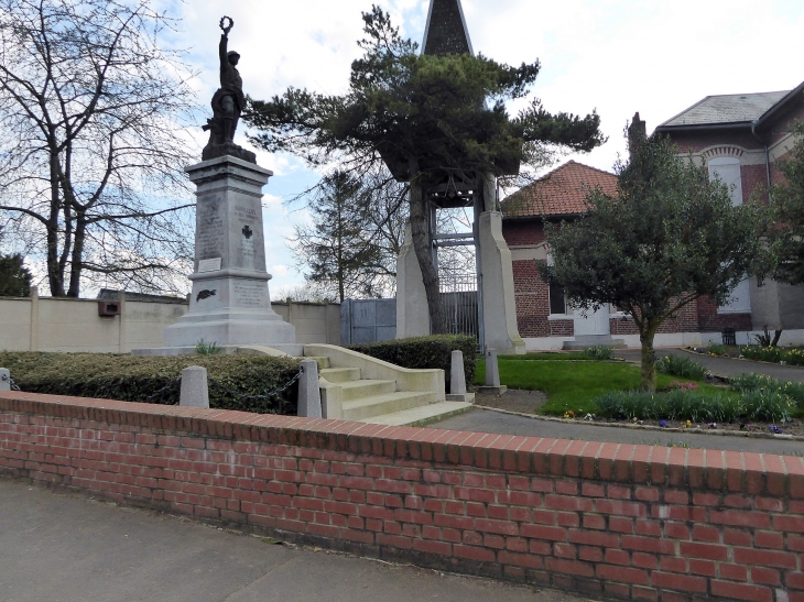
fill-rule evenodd
<path id="1" fill-rule="evenodd" d="M 150 0 L 0 0 L 0 211 L 53 296 L 186 273 L 196 101 L 172 26 Z"/>

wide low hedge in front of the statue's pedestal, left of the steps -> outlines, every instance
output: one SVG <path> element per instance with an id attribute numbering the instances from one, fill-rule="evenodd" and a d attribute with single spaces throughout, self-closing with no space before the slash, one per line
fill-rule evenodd
<path id="1" fill-rule="evenodd" d="M 291 381 L 298 373 L 300 360 L 265 355 L 162 358 L 0 351 L 0 366 L 11 371 L 11 377 L 22 391 L 124 402 L 144 402 L 155 394 L 149 403 L 165 405 L 178 403 L 181 385 L 174 381 L 191 365 L 207 369 L 210 407 L 258 414 L 296 414 L 297 384 L 272 399 L 242 399 L 226 388 L 238 394 L 264 395 Z M 167 385 L 165 391 L 157 393 Z"/>

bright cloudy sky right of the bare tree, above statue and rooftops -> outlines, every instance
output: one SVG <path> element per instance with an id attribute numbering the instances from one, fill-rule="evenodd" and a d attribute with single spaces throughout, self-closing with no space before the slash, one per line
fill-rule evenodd
<path id="1" fill-rule="evenodd" d="M 403 35 L 421 43 L 430 0 L 379 4 Z M 789 90 L 804 80 L 802 0 L 463 0 L 463 6 L 475 52 L 515 65 L 541 61 L 533 96 L 548 110 L 597 110 L 608 143 L 572 158 L 602 169 L 611 169 L 624 151 L 622 130 L 634 111 L 650 132 L 705 96 Z M 370 8 L 371 0 L 186 0 L 177 9 L 178 42 L 200 72 L 196 86 L 205 103 L 218 87 L 224 13 L 235 20 L 230 48 L 242 55 L 247 94 L 268 98 L 289 86 L 339 94 L 360 54 L 360 13 Z M 303 282 L 285 238 L 307 216 L 285 200 L 318 175 L 290 156 L 258 153 L 258 162 L 274 171 L 263 204 L 275 291 Z"/>

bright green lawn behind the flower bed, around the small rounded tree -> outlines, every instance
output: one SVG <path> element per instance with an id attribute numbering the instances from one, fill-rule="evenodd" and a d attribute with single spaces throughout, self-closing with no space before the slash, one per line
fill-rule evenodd
<path id="1" fill-rule="evenodd" d="M 526 358 L 515 355 L 517 358 Z M 513 358 L 513 355 L 511 357 Z M 632 391 L 639 388 L 638 366 L 617 362 L 568 362 L 543 360 L 539 362 L 499 358 L 500 383 L 512 388 L 542 391 L 550 398 L 541 414 L 563 415 L 572 409 L 576 415 L 594 414 L 591 401 L 609 391 Z M 482 385 L 486 362 L 477 366 L 475 384 Z M 656 375 L 656 386 L 666 387 L 673 381 L 685 381 L 666 374 Z M 700 393 L 736 395 L 725 388 L 699 383 Z"/>

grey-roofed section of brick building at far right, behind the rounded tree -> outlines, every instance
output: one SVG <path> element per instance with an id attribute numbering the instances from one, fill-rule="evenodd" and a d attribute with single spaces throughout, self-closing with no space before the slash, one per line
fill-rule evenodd
<path id="1" fill-rule="evenodd" d="M 772 203 L 770 187 L 782 178 L 776 168 L 794 144 L 792 125 L 804 119 L 804 83 L 793 90 L 708 96 L 656 128 L 694 161 L 706 161 L 711 177 L 731 188 L 731 201 Z M 749 331 L 784 330 L 782 343 L 804 342 L 804 286 L 749 278 L 717 307 L 698 302 L 700 331 L 732 326 L 738 342 Z"/>

